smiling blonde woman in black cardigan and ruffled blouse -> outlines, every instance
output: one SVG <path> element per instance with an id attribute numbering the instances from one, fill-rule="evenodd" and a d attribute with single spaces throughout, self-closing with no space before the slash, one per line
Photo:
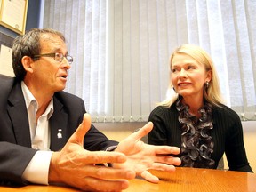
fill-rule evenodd
<path id="1" fill-rule="evenodd" d="M 223 104 L 212 59 L 184 44 L 170 60 L 172 95 L 149 116 L 148 143 L 177 146 L 181 166 L 216 169 L 224 152 L 229 170 L 252 172 L 239 116 Z"/>

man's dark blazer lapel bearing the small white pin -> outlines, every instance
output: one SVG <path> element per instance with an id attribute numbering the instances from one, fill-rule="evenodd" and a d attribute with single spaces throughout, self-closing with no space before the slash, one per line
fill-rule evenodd
<path id="1" fill-rule="evenodd" d="M 68 114 L 64 112 L 63 105 L 53 97 L 53 108 L 54 112 L 50 118 L 51 128 L 51 150 L 57 151 L 64 147 L 68 140 L 67 136 L 67 125 L 68 125 Z"/>

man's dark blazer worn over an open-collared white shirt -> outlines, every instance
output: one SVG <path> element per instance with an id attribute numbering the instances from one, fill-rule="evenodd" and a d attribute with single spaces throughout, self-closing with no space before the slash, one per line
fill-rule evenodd
<path id="1" fill-rule="evenodd" d="M 67 92 L 56 92 L 53 106 L 54 112 L 49 120 L 50 148 L 57 151 L 76 131 L 86 111 L 84 101 Z M 62 137 L 58 138 L 58 132 Z M 93 125 L 84 137 L 84 148 L 91 151 L 105 150 L 116 144 Z M 20 82 L 0 75 L 0 183 L 26 184 L 21 175 L 35 153 L 36 150 L 31 148 L 28 113 Z"/>

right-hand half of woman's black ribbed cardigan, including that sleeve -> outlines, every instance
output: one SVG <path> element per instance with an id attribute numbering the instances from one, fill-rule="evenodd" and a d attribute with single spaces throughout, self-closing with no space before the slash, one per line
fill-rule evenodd
<path id="1" fill-rule="evenodd" d="M 244 148 L 244 132 L 240 117 L 227 106 L 213 108 L 212 111 L 213 126 L 215 126 L 213 129 L 219 135 L 215 138 L 215 142 L 219 142 L 219 148 L 225 148 L 229 170 L 252 172 Z M 220 136 L 222 135 L 225 136 L 225 143 L 221 146 Z"/>

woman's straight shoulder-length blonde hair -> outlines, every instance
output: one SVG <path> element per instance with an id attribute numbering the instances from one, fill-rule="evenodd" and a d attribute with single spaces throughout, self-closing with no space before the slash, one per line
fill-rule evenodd
<path id="1" fill-rule="evenodd" d="M 206 71 L 212 71 L 212 80 L 209 82 L 207 88 L 204 89 L 204 100 L 207 100 L 212 105 L 220 106 L 223 103 L 221 93 L 220 93 L 220 84 L 216 69 L 213 65 L 213 61 L 209 54 L 205 52 L 202 48 L 194 45 L 194 44 L 183 44 L 178 47 L 170 57 L 170 70 L 172 68 L 172 59 L 176 54 L 187 54 L 188 56 L 192 57 L 197 62 L 204 65 Z M 159 103 L 159 105 L 170 107 L 175 100 L 178 98 L 178 93 L 173 90 L 173 85 L 171 81 L 171 72 L 170 72 L 170 83 L 169 88 L 167 90 L 167 97 L 166 100 Z"/>

